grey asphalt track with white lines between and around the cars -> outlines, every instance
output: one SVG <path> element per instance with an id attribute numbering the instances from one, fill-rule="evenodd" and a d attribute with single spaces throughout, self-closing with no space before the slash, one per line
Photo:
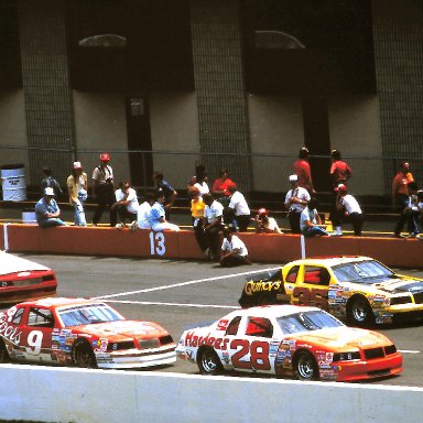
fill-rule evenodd
<path id="1" fill-rule="evenodd" d="M 140 260 L 51 254 L 19 256 L 51 267 L 57 274 L 58 295 L 101 297 L 128 318 L 155 321 L 175 341 L 186 326 L 215 321 L 238 306 L 246 273 L 278 267 L 252 264 L 220 269 L 210 262 Z M 423 278 L 423 270 L 399 270 Z M 403 352 L 401 376 L 371 383 L 423 387 L 423 323 L 379 327 Z M 197 373 L 178 360 L 158 371 Z"/>

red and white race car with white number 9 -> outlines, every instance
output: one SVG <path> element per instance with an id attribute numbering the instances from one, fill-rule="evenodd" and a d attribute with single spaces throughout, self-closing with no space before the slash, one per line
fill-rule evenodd
<path id="1" fill-rule="evenodd" d="M 101 301 L 45 299 L 0 313 L 0 362 L 144 368 L 176 361 L 160 325 L 128 321 Z"/>

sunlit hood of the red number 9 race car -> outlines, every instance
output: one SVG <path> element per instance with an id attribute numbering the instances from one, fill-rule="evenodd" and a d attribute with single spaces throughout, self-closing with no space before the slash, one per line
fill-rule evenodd
<path id="1" fill-rule="evenodd" d="M 153 322 L 117 321 L 95 323 L 72 327 L 73 332 L 86 335 L 95 335 L 102 338 L 158 338 L 167 335 L 167 332 Z"/>

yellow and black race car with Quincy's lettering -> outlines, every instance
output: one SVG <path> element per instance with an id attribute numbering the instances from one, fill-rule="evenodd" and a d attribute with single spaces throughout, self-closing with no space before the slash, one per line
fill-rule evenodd
<path id="1" fill-rule="evenodd" d="M 395 274 L 369 257 L 310 258 L 246 282 L 241 307 L 318 306 L 351 325 L 423 317 L 423 280 Z"/>

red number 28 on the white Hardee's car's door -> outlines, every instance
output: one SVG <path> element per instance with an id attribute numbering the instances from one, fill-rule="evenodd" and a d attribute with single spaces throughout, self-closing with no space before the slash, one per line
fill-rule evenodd
<path id="1" fill-rule="evenodd" d="M 269 343 L 253 340 L 251 344 L 247 339 L 234 339 L 230 349 L 240 349 L 232 356 L 232 365 L 238 369 L 270 370 Z M 250 361 L 242 360 L 250 354 Z"/>

